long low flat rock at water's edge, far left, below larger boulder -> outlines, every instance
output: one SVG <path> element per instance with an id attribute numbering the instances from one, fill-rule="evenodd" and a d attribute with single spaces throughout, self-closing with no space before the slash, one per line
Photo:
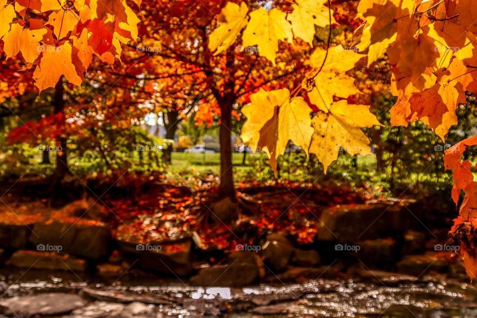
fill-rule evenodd
<path id="1" fill-rule="evenodd" d="M 42 252 L 31 250 L 17 250 L 6 261 L 5 265 L 20 268 L 38 268 L 66 271 L 85 271 L 87 262 L 68 254 L 56 252 Z"/>

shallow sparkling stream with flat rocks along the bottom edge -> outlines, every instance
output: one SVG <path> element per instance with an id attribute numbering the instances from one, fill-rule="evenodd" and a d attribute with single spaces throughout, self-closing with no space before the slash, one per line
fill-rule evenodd
<path id="1" fill-rule="evenodd" d="M 46 278 L 46 277 L 45 277 Z M 280 287 L 124 286 L 1 281 L 0 317 L 476 317 L 476 289 L 445 275 L 361 271 Z"/>

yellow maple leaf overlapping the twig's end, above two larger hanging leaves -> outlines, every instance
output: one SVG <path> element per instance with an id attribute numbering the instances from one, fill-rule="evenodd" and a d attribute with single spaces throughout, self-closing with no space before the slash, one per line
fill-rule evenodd
<path id="1" fill-rule="evenodd" d="M 324 60 L 326 57 L 326 60 Z M 327 111 L 333 102 L 333 96 L 347 98 L 358 92 L 354 79 L 345 74 L 354 68 L 354 65 L 363 55 L 351 50 L 344 50 L 342 46 L 336 46 L 326 50 L 317 48 L 310 57 L 313 70 L 307 75 L 313 77 L 315 85 L 308 92 L 310 101 L 322 111 Z M 323 64 L 324 61 L 324 64 Z M 322 67 L 321 67 L 322 66 Z M 319 71 L 319 73 L 318 73 Z M 307 87 L 308 80 L 302 84 Z"/>

